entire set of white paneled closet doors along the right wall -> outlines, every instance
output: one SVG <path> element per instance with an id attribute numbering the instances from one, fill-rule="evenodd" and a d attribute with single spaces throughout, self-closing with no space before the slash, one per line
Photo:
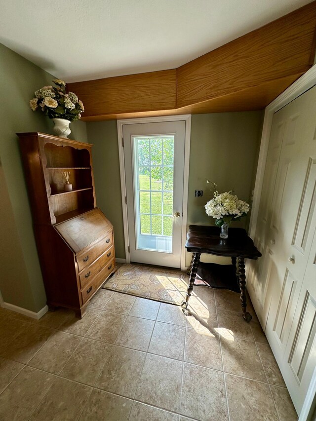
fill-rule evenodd
<path id="1" fill-rule="evenodd" d="M 274 116 L 250 281 L 298 413 L 316 367 L 315 117 L 316 87 Z"/>

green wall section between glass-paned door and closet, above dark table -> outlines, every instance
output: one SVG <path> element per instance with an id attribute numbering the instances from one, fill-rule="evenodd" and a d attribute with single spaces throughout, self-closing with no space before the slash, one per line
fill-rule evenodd
<path id="1" fill-rule="evenodd" d="M 206 180 L 250 203 L 262 118 L 262 111 L 192 115 L 188 225 L 214 225 L 204 208 L 213 198 Z M 195 190 L 203 190 L 203 196 L 195 197 Z M 242 218 L 233 226 L 247 228 L 247 222 Z"/>

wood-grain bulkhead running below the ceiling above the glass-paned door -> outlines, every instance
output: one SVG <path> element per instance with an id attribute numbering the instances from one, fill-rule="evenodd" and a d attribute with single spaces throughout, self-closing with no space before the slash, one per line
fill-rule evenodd
<path id="1" fill-rule="evenodd" d="M 83 121 L 265 108 L 313 65 L 316 1 L 178 69 L 69 83 Z"/>

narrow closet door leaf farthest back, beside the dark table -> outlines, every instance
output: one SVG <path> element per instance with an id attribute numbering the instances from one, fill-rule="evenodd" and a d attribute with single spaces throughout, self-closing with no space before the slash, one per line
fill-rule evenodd
<path id="1" fill-rule="evenodd" d="M 270 225 L 272 218 L 272 198 L 281 153 L 284 128 L 284 116 L 276 113 L 274 115 L 271 129 L 264 183 L 259 206 L 257 230 L 254 238 L 254 242 L 262 253 L 262 257 L 248 263 L 250 266 L 250 273 L 248 276 L 249 282 L 247 288 L 263 328 L 266 325 L 271 301 L 272 289 L 269 286 L 269 281 L 274 277 L 272 271 L 275 270 L 275 266 L 273 265 L 274 244 L 272 240 L 273 235 L 270 232 Z"/>

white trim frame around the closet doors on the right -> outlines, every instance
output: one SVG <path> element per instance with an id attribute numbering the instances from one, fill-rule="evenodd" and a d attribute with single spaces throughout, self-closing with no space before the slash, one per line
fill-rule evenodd
<path id="1" fill-rule="evenodd" d="M 270 133 L 273 121 L 273 115 L 285 107 L 288 103 L 293 101 L 299 95 L 302 95 L 305 91 L 316 85 L 316 65 L 314 65 L 309 71 L 307 71 L 302 77 L 300 77 L 296 82 L 289 86 L 284 92 L 282 92 L 271 104 L 266 107 L 260 152 L 258 159 L 258 167 L 256 173 L 256 182 L 254 188 L 252 210 L 249 224 L 249 235 L 254 238 L 257 227 L 258 213 L 259 213 L 259 204 L 260 197 L 263 186 L 263 178 L 266 167 L 266 160 L 269 148 Z M 247 265 L 248 266 L 248 265 Z M 249 274 L 247 268 L 247 275 Z M 246 277 L 248 278 L 248 276 Z M 316 400 L 316 370 L 313 374 L 311 384 L 309 386 L 305 402 L 301 411 L 299 421 L 308 421 L 311 419 Z"/>

